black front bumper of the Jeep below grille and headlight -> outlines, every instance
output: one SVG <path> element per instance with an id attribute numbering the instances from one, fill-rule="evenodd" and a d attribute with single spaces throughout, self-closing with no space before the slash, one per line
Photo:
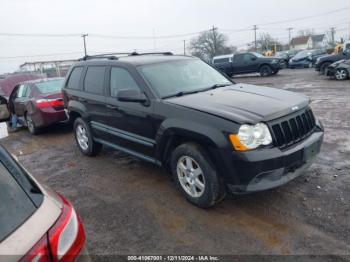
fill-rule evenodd
<path id="1" fill-rule="evenodd" d="M 312 164 L 320 152 L 323 128 L 291 148 L 262 148 L 247 152 L 218 152 L 223 161 L 223 175 L 233 193 L 252 193 L 288 183 Z"/>

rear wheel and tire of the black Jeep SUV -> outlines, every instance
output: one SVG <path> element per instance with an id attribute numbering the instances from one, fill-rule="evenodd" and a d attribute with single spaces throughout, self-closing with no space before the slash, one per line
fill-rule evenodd
<path id="1" fill-rule="evenodd" d="M 89 125 L 80 117 L 74 121 L 74 137 L 80 152 L 86 156 L 95 156 L 102 149 L 102 145 L 93 140 Z"/>

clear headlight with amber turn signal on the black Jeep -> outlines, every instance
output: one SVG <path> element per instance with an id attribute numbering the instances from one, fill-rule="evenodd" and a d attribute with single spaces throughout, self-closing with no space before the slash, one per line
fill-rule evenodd
<path id="1" fill-rule="evenodd" d="M 263 124 L 242 125 L 237 135 L 230 135 L 233 147 L 237 151 L 246 151 L 255 149 L 261 145 L 272 143 L 272 137 L 269 128 Z"/>

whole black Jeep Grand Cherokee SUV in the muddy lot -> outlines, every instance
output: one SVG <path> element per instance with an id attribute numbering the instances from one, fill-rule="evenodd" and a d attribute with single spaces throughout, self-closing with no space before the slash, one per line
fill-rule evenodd
<path id="1" fill-rule="evenodd" d="M 168 167 L 197 206 L 214 205 L 227 189 L 283 185 L 320 151 L 323 128 L 305 96 L 234 84 L 171 53 L 86 60 L 63 89 L 81 152 L 105 145 Z"/>

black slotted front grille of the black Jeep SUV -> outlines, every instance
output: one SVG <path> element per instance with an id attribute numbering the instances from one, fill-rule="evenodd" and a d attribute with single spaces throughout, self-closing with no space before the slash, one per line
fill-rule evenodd
<path id="1" fill-rule="evenodd" d="M 316 120 L 310 108 L 270 123 L 274 143 L 281 149 L 288 148 L 310 136 Z"/>

